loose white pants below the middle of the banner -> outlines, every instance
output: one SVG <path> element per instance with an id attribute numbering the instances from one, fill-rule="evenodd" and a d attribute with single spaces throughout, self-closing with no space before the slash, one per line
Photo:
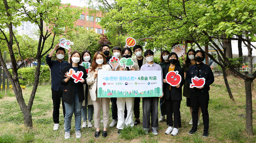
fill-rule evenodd
<path id="1" fill-rule="evenodd" d="M 124 108 L 127 108 L 127 117 L 124 120 Z M 118 122 L 116 128 L 123 129 L 124 125 L 133 126 L 133 106 L 134 106 L 134 97 L 119 97 L 116 100 L 117 105 L 117 115 L 118 115 Z"/>

